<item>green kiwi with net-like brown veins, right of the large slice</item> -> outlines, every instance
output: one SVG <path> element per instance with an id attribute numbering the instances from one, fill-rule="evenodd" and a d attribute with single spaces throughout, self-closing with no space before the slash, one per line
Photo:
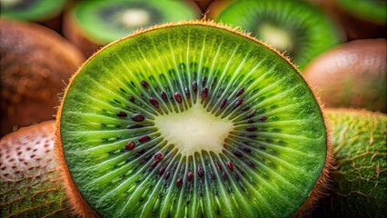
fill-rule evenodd
<path id="1" fill-rule="evenodd" d="M 326 110 L 335 158 L 329 217 L 386 217 L 387 115 Z"/>

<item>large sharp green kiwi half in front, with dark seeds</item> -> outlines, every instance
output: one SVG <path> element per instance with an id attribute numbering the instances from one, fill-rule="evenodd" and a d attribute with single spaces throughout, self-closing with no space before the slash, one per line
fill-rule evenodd
<path id="1" fill-rule="evenodd" d="M 301 74 L 213 22 L 107 45 L 71 79 L 57 126 L 84 215 L 286 217 L 326 180 L 323 115 Z"/>

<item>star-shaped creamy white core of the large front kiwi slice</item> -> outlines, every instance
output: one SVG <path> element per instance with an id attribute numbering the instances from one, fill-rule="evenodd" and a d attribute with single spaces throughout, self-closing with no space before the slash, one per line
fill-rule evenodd
<path id="1" fill-rule="evenodd" d="M 207 112 L 202 104 L 193 104 L 179 114 L 159 115 L 154 124 L 164 139 L 185 156 L 202 151 L 222 153 L 224 139 L 233 131 L 232 121 Z"/>

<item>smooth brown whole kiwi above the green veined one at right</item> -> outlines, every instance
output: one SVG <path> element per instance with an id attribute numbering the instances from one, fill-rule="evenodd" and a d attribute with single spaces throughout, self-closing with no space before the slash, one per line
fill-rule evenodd
<path id="1" fill-rule="evenodd" d="M 328 107 L 387 112 L 386 39 L 355 40 L 317 57 L 304 78 Z"/>

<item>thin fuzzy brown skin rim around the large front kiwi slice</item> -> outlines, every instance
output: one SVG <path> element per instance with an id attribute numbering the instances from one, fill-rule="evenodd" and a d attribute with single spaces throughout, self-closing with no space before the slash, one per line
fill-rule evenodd
<path id="1" fill-rule="evenodd" d="M 117 41 L 110 43 L 109 45 L 105 45 L 105 47 L 119 43 L 126 38 L 134 37 L 135 35 L 140 35 L 140 34 L 144 34 L 146 32 L 151 32 L 151 31 L 156 30 L 156 29 L 162 29 L 162 28 L 167 28 L 167 27 L 176 26 L 176 25 L 213 26 L 213 27 L 217 27 L 217 28 L 231 31 L 231 32 L 233 32 L 233 34 L 236 34 L 236 35 L 241 35 L 245 38 L 253 40 L 256 43 L 265 45 L 266 47 L 272 49 L 273 52 L 282 56 L 283 59 L 285 59 L 289 64 L 291 64 L 293 66 L 293 68 L 300 74 L 300 77 L 302 77 L 301 73 L 299 72 L 297 67 L 291 62 L 289 57 L 283 55 L 282 53 L 277 51 L 275 48 L 273 48 L 271 45 L 267 45 L 267 44 L 259 41 L 258 39 L 250 36 L 250 34 L 244 33 L 240 28 L 233 28 L 230 25 L 223 25 L 222 23 L 215 23 L 213 20 L 206 20 L 205 18 L 191 20 L 191 21 L 164 23 L 161 25 L 151 26 L 151 27 L 144 29 L 144 30 L 140 29 L 140 30 L 135 31 L 132 35 L 128 35 L 124 38 L 121 38 Z M 84 64 L 86 64 L 90 59 L 92 59 L 94 57 L 94 55 L 97 55 L 98 53 L 99 53 L 99 51 L 94 53 L 92 56 L 90 56 L 84 62 Z M 80 69 L 83 68 L 84 64 L 80 67 Z M 65 99 L 65 96 L 68 93 L 68 90 L 71 87 L 71 84 L 73 83 L 74 78 L 76 77 L 77 74 L 79 74 L 79 72 L 80 72 L 80 70 L 78 70 L 70 78 L 70 81 L 69 81 L 67 87 L 65 88 L 65 94 L 63 96 L 63 99 Z M 309 88 L 313 92 L 313 89 L 311 87 L 309 87 Z M 322 107 L 321 107 L 322 104 L 321 104 L 320 100 L 316 97 L 314 92 L 313 92 L 313 95 L 319 104 L 320 111 L 322 111 Z M 61 168 L 61 178 L 62 178 L 62 181 L 64 181 L 66 194 L 67 194 L 67 196 L 70 200 L 70 203 L 72 204 L 73 209 L 76 212 L 76 214 L 80 215 L 81 217 L 101 217 L 101 215 L 98 214 L 94 210 L 94 208 L 92 208 L 84 200 L 84 197 L 82 196 L 82 194 L 77 190 L 76 184 L 74 183 L 72 175 L 71 175 L 71 173 L 67 167 L 67 164 L 65 162 L 65 154 L 64 154 L 62 140 L 61 140 L 61 115 L 62 115 L 63 106 L 64 106 L 64 100 L 61 101 L 61 104 L 59 105 L 59 108 L 58 108 L 58 112 L 56 114 L 55 157 L 56 157 L 56 162 L 58 163 L 59 167 Z M 323 111 L 322 111 L 322 115 L 323 115 Z M 326 126 L 326 121 L 325 121 L 324 115 L 323 115 L 323 120 L 324 120 L 324 125 Z M 327 132 L 328 131 L 326 131 L 326 135 L 328 137 Z M 327 190 L 328 190 L 328 181 L 329 181 L 329 174 L 328 173 L 329 173 L 330 169 L 332 168 L 332 162 L 333 162 L 333 158 L 332 158 L 332 154 L 331 154 L 331 150 L 332 150 L 331 144 L 329 144 L 328 142 L 329 142 L 329 139 L 327 138 L 327 147 L 326 147 L 327 148 L 327 155 L 326 155 L 325 163 L 323 166 L 323 171 L 320 174 L 320 177 L 318 178 L 317 182 L 315 183 L 312 192 L 309 194 L 308 198 L 303 203 L 303 205 L 297 210 L 297 212 L 293 214 L 293 217 L 305 217 L 309 213 L 311 213 L 313 211 L 313 207 L 319 201 L 319 199 L 321 198 L 323 193 L 327 192 Z"/>

